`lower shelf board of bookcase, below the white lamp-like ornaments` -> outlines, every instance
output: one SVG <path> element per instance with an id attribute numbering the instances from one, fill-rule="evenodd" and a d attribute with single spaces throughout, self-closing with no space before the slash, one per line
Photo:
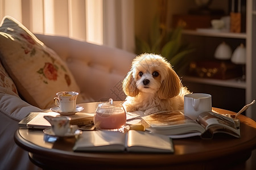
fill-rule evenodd
<path id="1" fill-rule="evenodd" d="M 203 83 L 211 84 L 216 86 L 233 87 L 246 89 L 246 82 L 238 82 L 237 79 L 219 80 L 219 79 L 208 79 L 208 78 L 197 78 L 193 76 L 184 76 L 183 82 Z"/>

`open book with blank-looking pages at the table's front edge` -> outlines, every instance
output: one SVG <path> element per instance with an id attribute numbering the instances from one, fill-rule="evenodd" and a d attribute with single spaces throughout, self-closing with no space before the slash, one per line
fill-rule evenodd
<path id="1" fill-rule="evenodd" d="M 172 139 L 147 131 L 83 131 L 73 147 L 74 151 L 105 152 L 174 152 Z"/>

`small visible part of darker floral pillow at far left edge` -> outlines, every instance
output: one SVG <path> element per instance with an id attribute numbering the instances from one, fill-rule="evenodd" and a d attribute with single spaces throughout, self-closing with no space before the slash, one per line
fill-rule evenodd
<path id="1" fill-rule="evenodd" d="M 18 91 L 13 80 L 6 73 L 5 68 L 2 66 L 0 62 L 0 93 L 16 95 L 18 96 Z"/>

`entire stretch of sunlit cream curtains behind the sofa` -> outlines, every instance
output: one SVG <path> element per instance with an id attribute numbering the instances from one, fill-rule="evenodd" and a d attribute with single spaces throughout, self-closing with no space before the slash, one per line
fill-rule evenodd
<path id="1" fill-rule="evenodd" d="M 134 52 L 134 0 L 0 0 L 34 33 L 68 36 Z"/>

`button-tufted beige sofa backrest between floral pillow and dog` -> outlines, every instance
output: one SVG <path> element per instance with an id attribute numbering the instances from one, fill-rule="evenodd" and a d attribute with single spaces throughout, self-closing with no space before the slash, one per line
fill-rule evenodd
<path id="1" fill-rule="evenodd" d="M 135 54 L 68 37 L 36 36 L 67 62 L 86 100 L 125 99 L 122 80 L 130 70 Z"/>

